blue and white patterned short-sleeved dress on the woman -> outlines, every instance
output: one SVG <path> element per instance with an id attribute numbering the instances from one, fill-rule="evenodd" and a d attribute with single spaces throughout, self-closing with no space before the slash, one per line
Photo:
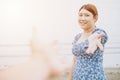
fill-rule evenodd
<path id="1" fill-rule="evenodd" d="M 96 28 L 92 34 L 101 32 L 105 34 L 101 39 L 104 46 L 108 39 L 106 32 L 103 29 Z M 73 80 L 107 80 L 103 69 L 103 51 L 97 48 L 94 53 L 87 54 L 88 39 L 77 44 L 76 42 L 80 37 L 81 33 L 76 35 L 72 47 L 72 53 L 76 57 Z"/>

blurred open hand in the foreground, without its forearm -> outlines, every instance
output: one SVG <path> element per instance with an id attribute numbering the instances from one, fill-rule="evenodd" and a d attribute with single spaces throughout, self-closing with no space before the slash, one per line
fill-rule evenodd
<path id="1" fill-rule="evenodd" d="M 42 33 L 44 34 L 44 33 Z M 51 34 L 49 34 L 50 36 Z M 42 38 L 42 39 L 41 39 Z M 59 75 L 65 69 L 69 68 L 67 64 L 63 64 L 62 59 L 58 56 L 59 41 L 43 41 L 44 36 L 39 36 L 39 31 L 36 27 L 33 28 L 32 38 L 31 38 L 31 49 L 32 49 L 32 60 L 40 59 L 43 65 L 47 65 L 49 70 L 49 77 L 54 77 Z M 42 63 L 41 63 L 42 65 Z"/>

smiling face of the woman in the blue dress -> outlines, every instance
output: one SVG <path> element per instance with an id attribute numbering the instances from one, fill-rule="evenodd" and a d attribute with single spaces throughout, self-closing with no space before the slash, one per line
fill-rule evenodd
<path id="1" fill-rule="evenodd" d="M 78 23 L 82 29 L 89 29 L 95 26 L 95 18 L 91 12 L 86 9 L 81 9 L 78 13 Z"/>

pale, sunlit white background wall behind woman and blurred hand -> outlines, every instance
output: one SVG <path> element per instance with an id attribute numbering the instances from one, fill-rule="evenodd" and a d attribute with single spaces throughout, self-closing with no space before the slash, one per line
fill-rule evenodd
<path id="1" fill-rule="evenodd" d="M 0 67 L 28 60 L 32 27 L 46 43 L 58 40 L 59 53 L 71 62 L 71 43 L 79 33 L 78 10 L 84 3 L 95 4 L 99 12 L 97 26 L 106 30 L 109 41 L 104 55 L 105 67 L 120 67 L 118 0 L 0 0 Z M 3 66 L 4 65 L 4 66 Z"/>

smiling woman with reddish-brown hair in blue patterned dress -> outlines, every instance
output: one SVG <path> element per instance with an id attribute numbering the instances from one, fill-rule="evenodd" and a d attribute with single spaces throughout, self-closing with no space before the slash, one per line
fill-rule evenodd
<path id="1" fill-rule="evenodd" d="M 103 51 L 107 33 L 97 28 L 97 8 L 93 4 L 83 5 L 78 12 L 78 23 L 83 29 L 75 36 L 72 53 L 73 66 L 70 80 L 106 80 L 103 69 Z"/>

